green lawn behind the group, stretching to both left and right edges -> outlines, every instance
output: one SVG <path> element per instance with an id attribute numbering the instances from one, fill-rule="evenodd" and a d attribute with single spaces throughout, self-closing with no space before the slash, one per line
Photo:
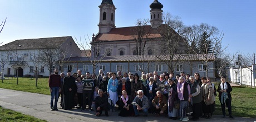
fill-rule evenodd
<path id="1" fill-rule="evenodd" d="M 218 87 L 219 83 L 215 83 L 215 87 Z M 0 83 L 0 88 L 13 89 L 24 92 L 40 93 L 50 95 L 48 87 L 48 78 L 39 78 L 37 87 L 35 79 L 19 78 L 18 85 L 16 79 L 4 79 L 4 82 Z M 251 117 L 256 118 L 256 88 L 249 87 L 233 87 L 232 94 L 232 113 L 234 116 Z M 218 94 L 218 93 L 217 93 Z M 218 96 L 216 96 L 216 111 L 214 114 L 222 115 L 220 102 Z M 228 109 L 226 109 L 228 114 Z"/>

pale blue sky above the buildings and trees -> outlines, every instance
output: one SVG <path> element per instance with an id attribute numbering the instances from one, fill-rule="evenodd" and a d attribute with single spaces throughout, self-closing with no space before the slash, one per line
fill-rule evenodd
<path id="1" fill-rule="evenodd" d="M 137 19 L 150 18 L 154 0 L 113 0 L 117 28 L 135 26 Z M 0 42 L 17 39 L 72 36 L 91 39 L 99 31 L 99 5 L 102 0 L 2 0 L 0 20 L 7 17 Z M 230 54 L 256 52 L 255 0 L 159 0 L 164 12 L 177 15 L 185 25 L 208 23 L 223 31 L 223 46 Z M 86 38 L 88 40 L 88 38 Z M 76 41 L 76 40 L 75 40 Z M 2 44 L 2 45 L 3 45 Z M 1 46 L 1 45 L 0 45 Z"/>

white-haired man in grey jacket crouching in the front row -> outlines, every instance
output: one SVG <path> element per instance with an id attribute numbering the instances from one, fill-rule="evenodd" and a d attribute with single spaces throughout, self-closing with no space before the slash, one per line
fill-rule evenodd
<path id="1" fill-rule="evenodd" d="M 147 116 L 147 109 L 149 109 L 149 99 L 144 96 L 142 90 L 137 91 L 137 94 L 138 95 L 132 101 L 132 105 L 134 105 L 134 117 L 139 116 L 139 110 L 142 110 L 144 112 L 144 116 Z"/>

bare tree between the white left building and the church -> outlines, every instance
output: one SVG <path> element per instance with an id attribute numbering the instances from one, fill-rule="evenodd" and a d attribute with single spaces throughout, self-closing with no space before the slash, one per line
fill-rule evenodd
<path id="1" fill-rule="evenodd" d="M 80 47 L 80 49 L 82 49 L 82 53 L 84 53 L 86 55 L 86 58 L 88 60 L 88 62 L 90 62 L 91 66 L 92 66 L 92 73 L 95 73 L 96 68 L 100 66 L 101 61 L 104 59 L 104 57 L 106 57 L 112 49 L 106 49 L 104 50 L 103 54 L 100 54 L 100 49 L 99 46 L 104 44 L 104 40 L 95 40 L 95 35 L 92 35 L 92 41 L 89 39 L 88 35 L 85 41 L 82 41 L 80 38 L 80 41 L 78 42 L 77 38 L 77 45 L 78 47 Z M 96 35 L 97 36 L 97 35 Z M 86 52 L 86 50 L 90 49 L 92 53 L 94 54 L 88 54 L 88 52 Z M 82 60 L 81 60 L 82 61 Z M 83 63 L 86 63 L 87 61 L 82 61 Z"/>

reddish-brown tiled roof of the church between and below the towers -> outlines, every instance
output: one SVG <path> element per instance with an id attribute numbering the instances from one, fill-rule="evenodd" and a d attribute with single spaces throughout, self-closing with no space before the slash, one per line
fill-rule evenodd
<path id="1" fill-rule="evenodd" d="M 134 40 L 134 36 L 136 36 L 135 31 L 137 28 L 138 26 L 112 28 L 109 33 L 97 34 L 95 41 Z M 150 25 L 146 25 L 145 30 L 150 30 L 150 34 L 147 36 L 147 38 L 163 38 L 159 33 L 156 33 L 156 31 L 154 31 Z"/>

